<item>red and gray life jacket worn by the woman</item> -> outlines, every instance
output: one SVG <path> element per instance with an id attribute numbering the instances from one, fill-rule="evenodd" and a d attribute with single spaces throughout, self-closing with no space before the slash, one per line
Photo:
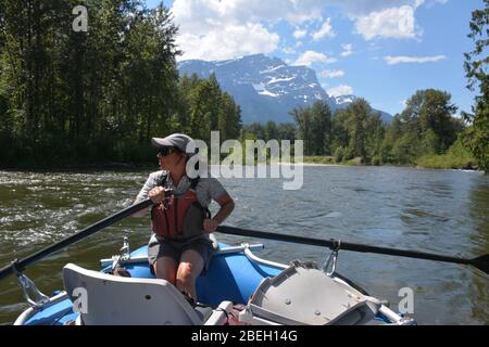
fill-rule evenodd
<path id="1" fill-rule="evenodd" d="M 163 176 L 159 185 L 164 185 L 165 181 L 166 176 Z M 152 230 L 156 235 L 170 240 L 189 240 L 204 234 L 203 220 L 211 218 L 211 213 L 197 198 L 199 177 L 190 181 L 190 188 L 185 194 L 171 196 L 151 209 Z"/>

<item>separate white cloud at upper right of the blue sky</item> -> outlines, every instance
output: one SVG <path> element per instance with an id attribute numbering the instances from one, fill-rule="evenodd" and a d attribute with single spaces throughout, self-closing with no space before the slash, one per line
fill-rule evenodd
<path id="1" fill-rule="evenodd" d="M 356 20 L 355 29 L 366 40 L 376 37 L 415 39 L 414 8 L 404 5 L 372 12 Z"/>

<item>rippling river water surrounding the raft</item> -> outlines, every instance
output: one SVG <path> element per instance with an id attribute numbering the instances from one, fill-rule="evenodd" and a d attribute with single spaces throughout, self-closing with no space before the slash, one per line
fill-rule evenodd
<path id="1" fill-rule="evenodd" d="M 0 171 L 0 267 L 112 215 L 134 201 L 150 170 Z M 236 209 L 226 224 L 466 258 L 489 253 L 489 177 L 480 172 L 393 167 L 305 166 L 304 184 L 279 179 L 222 179 Z M 216 210 L 214 205 L 211 210 Z M 46 294 L 62 290 L 66 262 L 98 269 L 150 235 L 148 218 L 127 218 L 28 268 Z M 279 262 L 321 261 L 327 249 L 217 234 L 229 244 L 264 243 L 259 256 Z M 421 324 L 489 324 L 489 277 L 467 266 L 340 252 L 338 271 L 397 310 L 414 293 Z M 26 308 L 14 277 L 0 282 L 0 324 Z"/>

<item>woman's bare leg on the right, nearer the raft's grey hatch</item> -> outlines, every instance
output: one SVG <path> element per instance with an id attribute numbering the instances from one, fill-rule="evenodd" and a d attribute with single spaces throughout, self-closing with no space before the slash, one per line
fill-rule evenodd
<path id="1" fill-rule="evenodd" d="M 196 300 L 196 281 L 202 272 L 203 267 L 204 260 L 197 250 L 184 250 L 176 273 L 176 286 L 178 290 L 187 292 Z"/>

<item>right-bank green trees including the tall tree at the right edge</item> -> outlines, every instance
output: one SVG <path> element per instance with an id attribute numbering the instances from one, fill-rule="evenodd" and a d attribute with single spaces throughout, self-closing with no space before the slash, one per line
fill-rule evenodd
<path id="1" fill-rule="evenodd" d="M 368 103 L 359 99 L 347 108 L 331 113 L 328 105 L 316 102 L 312 107 L 293 110 L 296 124 L 243 127 L 269 138 L 303 139 L 304 154 L 330 156 L 335 162 L 356 158 L 366 164 L 427 164 L 431 167 L 473 167 L 489 172 L 489 0 L 473 11 L 468 38 L 474 49 L 465 53 L 467 88 L 477 93 L 472 113 L 462 112 L 446 91 L 418 90 L 402 113 L 390 125 Z M 293 136 L 292 136 L 293 134 Z M 472 163 L 475 159 L 475 163 Z"/>

